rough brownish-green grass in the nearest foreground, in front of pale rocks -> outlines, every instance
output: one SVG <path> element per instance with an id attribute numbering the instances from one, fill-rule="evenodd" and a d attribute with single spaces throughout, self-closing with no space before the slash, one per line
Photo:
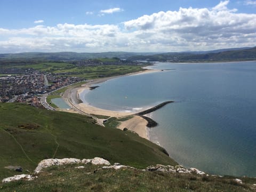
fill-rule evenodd
<path id="1" fill-rule="evenodd" d="M 81 164 L 82 165 L 82 164 Z M 52 166 L 34 181 L 17 181 L 0 185 L 1 191 L 255 191 L 235 178 L 205 177 L 196 174 L 149 172 L 123 168 L 102 170 L 101 166 Z M 206 179 L 207 178 L 207 179 Z M 253 179 L 254 182 L 256 179 Z"/>

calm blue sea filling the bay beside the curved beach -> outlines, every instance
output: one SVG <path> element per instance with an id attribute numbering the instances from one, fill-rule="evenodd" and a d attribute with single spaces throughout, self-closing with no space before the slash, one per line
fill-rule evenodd
<path id="1" fill-rule="evenodd" d="M 150 140 L 186 167 L 256 177 L 256 62 L 156 63 L 173 69 L 111 79 L 84 94 L 91 105 L 135 110 L 173 100 L 149 114 Z"/>

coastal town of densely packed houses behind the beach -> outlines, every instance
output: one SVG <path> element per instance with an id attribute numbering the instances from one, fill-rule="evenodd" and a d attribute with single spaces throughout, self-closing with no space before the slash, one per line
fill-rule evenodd
<path id="1" fill-rule="evenodd" d="M 41 107 L 42 94 L 85 80 L 34 69 L 13 69 L 12 74 L 0 77 L 0 102 L 22 102 L 36 107 Z"/>

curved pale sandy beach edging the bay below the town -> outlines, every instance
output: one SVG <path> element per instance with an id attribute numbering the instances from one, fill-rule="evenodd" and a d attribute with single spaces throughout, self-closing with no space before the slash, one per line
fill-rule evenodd
<path id="1" fill-rule="evenodd" d="M 129 75 L 139 75 L 143 73 L 153 73 L 159 70 L 145 70 L 145 71 L 140 71 L 137 73 L 132 73 L 132 74 L 126 74 L 126 75 L 121 75 L 121 76 L 114 76 L 114 77 L 106 77 L 106 78 L 100 78 L 100 79 L 93 79 L 85 84 L 83 84 L 80 87 L 73 87 L 65 91 L 65 94 L 63 95 L 63 99 L 68 103 L 68 105 L 73 109 L 76 110 L 78 113 L 82 113 L 85 115 L 104 115 L 104 116 L 109 116 L 109 117 L 125 117 L 129 115 L 134 115 L 133 118 L 120 122 L 120 125 L 117 127 L 118 129 L 123 130 L 124 128 L 127 128 L 130 131 L 134 131 L 140 135 L 142 138 L 149 139 L 148 137 L 148 127 L 146 119 L 135 115 L 139 111 L 134 111 L 134 112 L 125 112 L 125 111 L 113 111 L 113 110 L 106 110 L 106 109 L 101 109 L 94 107 L 90 105 L 89 103 L 81 103 L 81 100 L 79 99 L 79 94 L 82 93 L 84 90 L 90 90 L 90 86 L 102 83 L 105 81 L 108 81 L 109 79 L 112 78 L 117 78 L 117 77 L 122 77 L 122 76 L 129 76 Z M 93 90 L 92 90 L 93 91 Z M 141 109 L 140 111 L 145 110 Z M 102 119 L 98 119 L 97 117 L 94 117 L 99 124 L 102 124 Z"/>

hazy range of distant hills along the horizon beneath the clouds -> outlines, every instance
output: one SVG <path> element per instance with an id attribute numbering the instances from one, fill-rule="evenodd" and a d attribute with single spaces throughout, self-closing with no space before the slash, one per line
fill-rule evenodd
<path id="1" fill-rule="evenodd" d="M 42 62 L 42 61 L 81 61 L 98 58 L 119 58 L 126 60 L 170 61 L 170 62 L 209 62 L 209 61 L 242 61 L 256 60 L 256 47 L 220 49 L 212 51 L 187 51 L 169 53 L 135 53 L 135 52 L 102 52 L 102 53 L 9 53 L 0 54 L 0 62 Z"/>

